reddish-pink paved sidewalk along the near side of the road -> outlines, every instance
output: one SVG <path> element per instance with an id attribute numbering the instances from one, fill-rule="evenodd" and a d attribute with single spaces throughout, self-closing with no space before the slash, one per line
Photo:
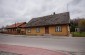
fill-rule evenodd
<path id="1" fill-rule="evenodd" d="M 6 44 L 0 44 L 0 51 L 4 52 L 4 55 L 12 53 L 14 53 L 15 55 L 18 54 L 19 55 L 70 55 L 67 52 L 52 51 L 42 48 L 25 47 L 18 45 L 6 45 Z"/>

